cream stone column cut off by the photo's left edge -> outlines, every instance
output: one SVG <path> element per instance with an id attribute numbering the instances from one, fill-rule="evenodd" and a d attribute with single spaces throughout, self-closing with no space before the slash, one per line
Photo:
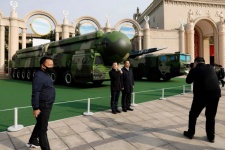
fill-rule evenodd
<path id="1" fill-rule="evenodd" d="M 0 26 L 0 74 L 5 73 L 5 27 Z"/>

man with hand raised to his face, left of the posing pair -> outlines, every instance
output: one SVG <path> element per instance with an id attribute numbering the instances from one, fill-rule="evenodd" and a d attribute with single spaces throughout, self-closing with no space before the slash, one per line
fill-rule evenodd
<path id="1" fill-rule="evenodd" d="M 121 74 L 122 71 L 118 70 L 117 62 L 113 62 L 112 70 L 109 71 L 109 76 L 111 80 L 111 109 L 113 114 L 120 113 L 120 111 L 118 110 L 118 99 L 121 91 Z"/>

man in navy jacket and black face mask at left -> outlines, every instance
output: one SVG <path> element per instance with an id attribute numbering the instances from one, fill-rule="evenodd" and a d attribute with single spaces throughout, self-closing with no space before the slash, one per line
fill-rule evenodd
<path id="1" fill-rule="evenodd" d="M 36 72 L 32 81 L 32 107 L 33 115 L 36 118 L 36 125 L 33 129 L 29 143 L 30 148 L 50 150 L 47 130 L 52 105 L 55 101 L 55 88 L 50 77 L 53 71 L 53 60 L 50 57 L 43 57 L 40 60 L 40 70 Z"/>

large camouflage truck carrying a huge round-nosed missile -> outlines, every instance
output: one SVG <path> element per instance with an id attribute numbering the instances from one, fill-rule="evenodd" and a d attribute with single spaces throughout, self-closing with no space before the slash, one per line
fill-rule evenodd
<path id="1" fill-rule="evenodd" d="M 150 49 L 144 53 L 154 51 Z M 131 42 L 125 34 L 96 31 L 16 51 L 10 64 L 11 76 L 31 80 L 40 67 L 40 59 L 49 56 L 54 60 L 54 72 L 51 74 L 54 82 L 63 81 L 66 85 L 93 82 L 101 85 L 109 80 L 112 62 L 126 60 L 130 52 Z M 131 55 L 141 54 L 132 52 Z"/>

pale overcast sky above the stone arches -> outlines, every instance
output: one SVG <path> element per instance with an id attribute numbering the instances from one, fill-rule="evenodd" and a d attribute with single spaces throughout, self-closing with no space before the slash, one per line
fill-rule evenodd
<path id="1" fill-rule="evenodd" d="M 0 11 L 9 17 L 12 7 L 11 0 L 0 0 Z M 110 24 L 114 26 L 124 18 L 133 19 L 133 14 L 139 7 L 143 12 L 153 0 L 16 0 L 19 4 L 16 11 L 19 18 L 33 10 L 43 10 L 52 14 L 58 21 L 63 22 L 63 10 L 68 10 L 69 23 L 81 16 L 92 16 L 102 26 L 106 23 L 106 14 L 111 16 Z"/>

